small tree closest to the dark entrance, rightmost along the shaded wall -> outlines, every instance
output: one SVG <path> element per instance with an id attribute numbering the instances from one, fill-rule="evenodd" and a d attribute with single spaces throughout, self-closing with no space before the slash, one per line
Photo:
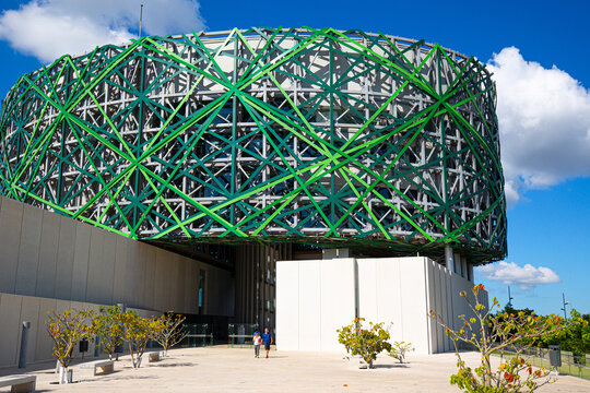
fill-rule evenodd
<path id="1" fill-rule="evenodd" d="M 160 323 L 153 318 L 139 317 L 133 311 L 120 313 L 123 325 L 123 336 L 129 343 L 129 353 L 133 368 L 139 368 L 141 357 L 145 352 L 148 342 L 160 331 Z"/>

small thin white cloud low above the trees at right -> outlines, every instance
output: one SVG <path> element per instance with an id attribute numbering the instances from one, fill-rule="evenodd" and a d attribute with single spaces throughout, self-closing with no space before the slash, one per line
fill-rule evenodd
<path id="1" fill-rule="evenodd" d="M 519 266 L 514 262 L 498 262 L 475 267 L 483 279 L 502 282 L 504 285 L 518 285 L 521 289 L 532 289 L 535 285 L 560 283 L 562 278 L 548 267 L 534 267 L 527 263 Z"/>

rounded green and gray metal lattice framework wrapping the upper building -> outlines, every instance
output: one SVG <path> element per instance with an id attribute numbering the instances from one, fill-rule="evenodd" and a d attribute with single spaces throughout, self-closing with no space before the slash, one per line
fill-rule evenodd
<path id="1" fill-rule="evenodd" d="M 450 243 L 489 262 L 506 254 L 495 107 L 481 62 L 423 40 L 143 37 L 17 81 L 0 192 L 153 241 Z"/>

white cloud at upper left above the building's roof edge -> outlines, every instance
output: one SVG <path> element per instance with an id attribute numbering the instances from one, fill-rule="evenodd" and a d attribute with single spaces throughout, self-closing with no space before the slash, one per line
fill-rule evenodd
<path id="1" fill-rule="evenodd" d="M 64 53 L 80 55 L 97 45 L 135 37 L 140 4 L 142 31 L 167 35 L 204 27 L 194 0 L 32 0 L 0 15 L 0 39 L 48 63 Z"/>

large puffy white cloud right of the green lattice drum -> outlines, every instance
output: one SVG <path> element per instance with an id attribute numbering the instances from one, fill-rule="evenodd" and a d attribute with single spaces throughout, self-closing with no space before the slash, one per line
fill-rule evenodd
<path id="1" fill-rule="evenodd" d="M 515 48 L 487 64 L 498 92 L 497 115 L 506 196 L 590 176 L 590 91 L 555 66 L 527 61 Z"/>

